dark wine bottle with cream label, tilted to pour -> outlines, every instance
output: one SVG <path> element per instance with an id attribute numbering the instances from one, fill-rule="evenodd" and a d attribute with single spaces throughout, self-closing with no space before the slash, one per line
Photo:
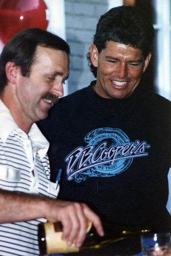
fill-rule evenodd
<path id="1" fill-rule="evenodd" d="M 140 237 L 143 233 L 152 232 L 152 228 L 143 226 L 125 226 L 115 223 L 103 222 L 105 234 L 100 237 L 92 223 L 88 223 L 86 239 L 82 247 L 77 248 L 75 244 L 68 246 L 62 237 L 62 225 L 60 222 L 46 222 L 38 226 L 38 240 L 40 255 L 71 253 L 87 249 L 100 249 L 119 240 L 129 237 Z"/>

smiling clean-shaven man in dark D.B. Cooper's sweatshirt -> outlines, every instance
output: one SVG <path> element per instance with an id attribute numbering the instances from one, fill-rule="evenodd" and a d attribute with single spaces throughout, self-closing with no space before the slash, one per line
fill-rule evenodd
<path id="1" fill-rule="evenodd" d="M 88 53 L 95 80 L 61 98 L 40 124 L 52 142 L 54 177 L 64 170 L 61 199 L 86 202 L 109 222 L 171 230 L 171 104 L 140 83 L 153 37 L 151 21 L 135 7 L 102 15 Z M 139 239 L 78 255 L 138 250 Z"/>

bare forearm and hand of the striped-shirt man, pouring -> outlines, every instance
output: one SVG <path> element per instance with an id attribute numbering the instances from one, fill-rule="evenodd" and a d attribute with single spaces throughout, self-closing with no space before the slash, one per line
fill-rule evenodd
<path id="1" fill-rule="evenodd" d="M 88 220 L 102 236 L 99 217 L 84 203 L 60 201 L 47 197 L 0 190 L 0 223 L 45 218 L 63 224 L 63 239 L 78 247 L 85 239 Z"/>

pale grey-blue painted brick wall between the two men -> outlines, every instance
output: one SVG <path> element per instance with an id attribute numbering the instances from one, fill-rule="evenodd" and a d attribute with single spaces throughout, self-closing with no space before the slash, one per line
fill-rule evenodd
<path id="1" fill-rule="evenodd" d="M 68 93 L 87 87 L 94 76 L 86 54 L 92 44 L 96 24 L 107 12 L 107 0 L 65 0 L 66 41 L 70 46 Z"/>

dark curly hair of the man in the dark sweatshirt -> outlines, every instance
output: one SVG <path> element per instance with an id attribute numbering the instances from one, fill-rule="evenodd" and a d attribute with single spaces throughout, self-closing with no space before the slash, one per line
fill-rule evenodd
<path id="1" fill-rule="evenodd" d="M 137 7 L 119 6 L 110 9 L 99 19 L 93 44 L 99 53 L 106 48 L 107 41 L 119 42 L 130 45 L 133 48 L 142 50 L 144 58 L 151 52 L 154 37 L 154 28 L 151 20 Z M 90 59 L 90 52 L 87 53 L 89 67 L 94 77 L 97 75 Z"/>

